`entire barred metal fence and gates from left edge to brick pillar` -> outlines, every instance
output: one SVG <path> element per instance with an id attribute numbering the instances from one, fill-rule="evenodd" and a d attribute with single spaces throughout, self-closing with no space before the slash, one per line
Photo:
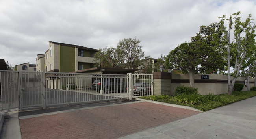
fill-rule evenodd
<path id="1" fill-rule="evenodd" d="M 152 74 L 76 74 L 0 70 L 0 110 L 45 109 L 153 94 Z"/>

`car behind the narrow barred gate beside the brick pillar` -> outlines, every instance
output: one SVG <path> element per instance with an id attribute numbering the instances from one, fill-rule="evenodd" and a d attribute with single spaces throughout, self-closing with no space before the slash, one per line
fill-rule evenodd
<path id="1" fill-rule="evenodd" d="M 134 95 L 151 95 L 151 85 L 149 83 L 138 82 L 134 84 Z"/>

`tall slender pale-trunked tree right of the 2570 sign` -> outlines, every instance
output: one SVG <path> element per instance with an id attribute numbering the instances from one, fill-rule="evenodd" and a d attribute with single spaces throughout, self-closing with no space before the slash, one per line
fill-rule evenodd
<path id="1" fill-rule="evenodd" d="M 241 64 L 243 63 L 247 50 L 250 49 L 250 44 L 248 43 L 249 35 L 255 30 L 252 26 L 252 22 L 250 19 L 251 14 L 245 20 L 245 22 L 241 22 L 239 17 L 240 12 L 234 13 L 230 15 L 229 19 L 226 19 L 226 15 L 223 17 L 219 17 L 221 21 L 219 22 L 221 25 L 221 30 L 224 32 L 223 35 L 223 46 L 226 48 L 226 57 L 225 60 L 227 61 L 228 65 L 228 94 L 232 95 L 233 87 L 236 82 L 237 77 L 240 74 Z M 232 19 L 235 19 L 233 22 Z M 224 26 L 224 22 L 228 21 L 228 28 Z M 255 26 L 255 25 L 254 25 Z M 231 41 L 230 32 L 231 29 L 234 28 L 234 41 Z M 253 29 L 254 28 L 254 29 Z M 241 35 L 245 34 L 244 37 Z M 232 61 L 234 60 L 234 64 L 232 66 Z M 231 82 L 231 66 L 233 67 L 234 74 L 233 79 Z"/>

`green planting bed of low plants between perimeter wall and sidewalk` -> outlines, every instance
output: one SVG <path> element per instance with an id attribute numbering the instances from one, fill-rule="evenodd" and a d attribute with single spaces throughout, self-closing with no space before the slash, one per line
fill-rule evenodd
<path id="1" fill-rule="evenodd" d="M 193 107 L 201 111 L 209 111 L 217 107 L 225 106 L 246 98 L 256 96 L 256 91 L 234 91 L 232 95 L 220 94 L 213 95 L 208 93 L 208 95 L 201 95 L 199 93 L 180 93 L 176 96 L 169 95 L 151 95 L 151 96 L 141 96 L 139 98 L 146 100 L 154 100 L 158 102 L 177 104 L 183 106 Z"/>

